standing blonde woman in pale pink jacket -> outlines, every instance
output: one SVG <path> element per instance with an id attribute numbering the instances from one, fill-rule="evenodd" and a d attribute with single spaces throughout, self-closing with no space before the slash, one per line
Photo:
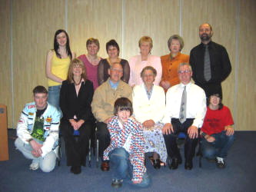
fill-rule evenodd
<path id="1" fill-rule="evenodd" d="M 151 66 L 157 71 L 154 84 L 158 85 L 161 81 L 161 60 L 159 57 L 151 55 L 151 48 L 153 47 L 153 41 L 148 36 L 143 36 L 138 41 L 138 46 L 141 49 L 141 55 L 132 57 L 129 61 L 130 64 L 130 80 L 131 87 L 136 84 L 142 84 L 141 71 L 146 66 Z"/>

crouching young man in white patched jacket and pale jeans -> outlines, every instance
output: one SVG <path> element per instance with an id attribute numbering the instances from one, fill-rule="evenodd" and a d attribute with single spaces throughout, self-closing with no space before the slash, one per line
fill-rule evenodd
<path id="1" fill-rule="evenodd" d="M 15 147 L 28 159 L 29 168 L 51 172 L 55 168 L 58 127 L 61 114 L 48 104 L 48 91 L 43 86 L 33 90 L 34 102 L 25 104 L 18 121 Z"/>

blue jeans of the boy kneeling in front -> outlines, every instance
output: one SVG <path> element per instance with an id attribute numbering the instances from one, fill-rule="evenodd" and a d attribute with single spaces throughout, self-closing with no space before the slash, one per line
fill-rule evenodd
<path id="1" fill-rule="evenodd" d="M 128 180 L 129 184 L 133 184 L 131 181 L 133 167 L 129 160 L 129 154 L 125 151 L 125 148 L 118 147 L 109 153 L 109 159 L 111 167 L 113 167 L 113 178 L 119 180 Z M 151 179 L 147 172 L 143 175 L 143 180 L 140 184 L 134 184 L 138 187 L 148 187 L 151 183 Z"/>

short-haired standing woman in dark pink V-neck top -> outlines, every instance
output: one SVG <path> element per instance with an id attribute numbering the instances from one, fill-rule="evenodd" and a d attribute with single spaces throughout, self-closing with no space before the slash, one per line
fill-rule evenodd
<path id="1" fill-rule="evenodd" d="M 88 80 L 92 81 L 93 88 L 98 88 L 98 63 L 101 58 L 98 57 L 99 42 L 97 38 L 88 38 L 86 41 L 87 55 L 80 55 L 78 58 L 83 61 Z"/>

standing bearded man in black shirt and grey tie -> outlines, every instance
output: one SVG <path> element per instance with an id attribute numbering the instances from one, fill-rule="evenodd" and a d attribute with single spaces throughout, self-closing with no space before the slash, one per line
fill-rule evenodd
<path id="1" fill-rule="evenodd" d="M 221 82 L 231 73 L 231 62 L 224 46 L 211 41 L 211 25 L 204 23 L 199 27 L 201 44 L 191 49 L 189 63 L 193 71 L 194 83 L 204 89 L 207 98 L 220 93 Z"/>

